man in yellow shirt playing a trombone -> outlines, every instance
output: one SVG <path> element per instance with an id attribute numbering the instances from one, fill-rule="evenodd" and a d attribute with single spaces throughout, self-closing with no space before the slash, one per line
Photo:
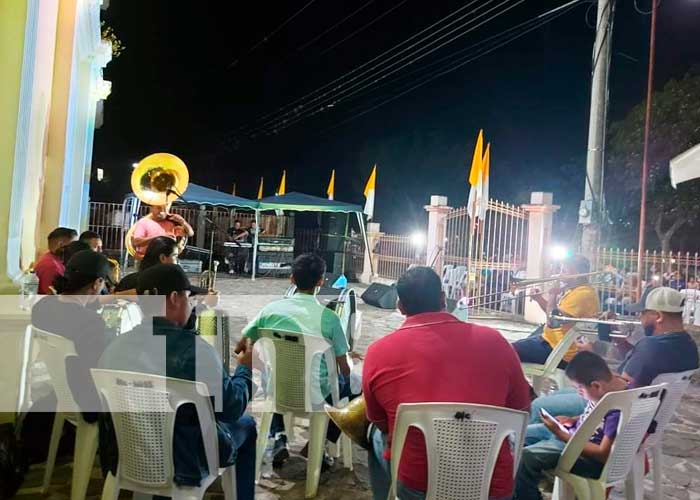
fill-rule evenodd
<path id="1" fill-rule="evenodd" d="M 582 255 L 575 255 L 562 265 L 562 273 L 565 275 L 589 273 L 591 265 L 588 259 Z M 594 318 L 598 316 L 600 303 L 598 292 L 588 282 L 587 277 L 572 278 L 564 281 L 566 288 L 556 304 L 554 301 L 560 293 L 559 289 L 550 291 L 550 300 L 546 300 L 542 295 L 534 295 L 532 299 L 536 301 L 542 310 L 549 315 L 556 310 L 561 316 L 572 318 Z M 513 343 L 513 348 L 518 353 L 520 361 L 523 363 L 544 364 L 547 357 L 552 353 L 552 349 L 562 341 L 573 323 L 545 325 L 542 334 L 535 334 L 518 340 Z M 568 362 L 576 354 L 576 345 L 572 344 L 564 356 L 564 361 Z"/>

